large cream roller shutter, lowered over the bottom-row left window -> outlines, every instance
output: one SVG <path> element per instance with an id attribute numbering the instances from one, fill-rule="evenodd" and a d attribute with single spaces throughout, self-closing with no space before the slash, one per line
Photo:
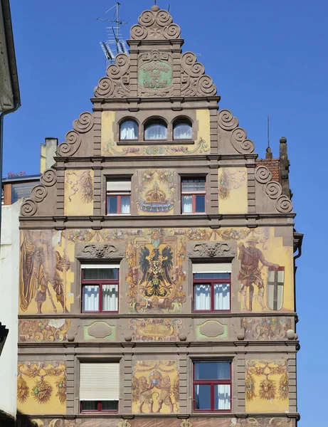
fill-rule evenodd
<path id="1" fill-rule="evenodd" d="M 118 401 L 119 363 L 81 363 L 80 401 Z"/>

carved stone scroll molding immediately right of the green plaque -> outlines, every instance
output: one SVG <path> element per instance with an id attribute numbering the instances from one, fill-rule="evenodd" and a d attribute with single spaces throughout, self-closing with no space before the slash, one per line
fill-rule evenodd
<path id="1" fill-rule="evenodd" d="M 196 55 L 186 52 L 181 56 L 181 96 L 213 96 L 216 85 L 205 74 L 203 64 L 197 62 Z"/>

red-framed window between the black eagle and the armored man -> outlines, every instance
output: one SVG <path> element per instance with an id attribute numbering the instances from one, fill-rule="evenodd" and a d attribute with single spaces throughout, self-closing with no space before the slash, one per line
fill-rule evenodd
<path id="1" fill-rule="evenodd" d="M 194 312 L 231 310 L 231 263 L 193 264 Z"/>

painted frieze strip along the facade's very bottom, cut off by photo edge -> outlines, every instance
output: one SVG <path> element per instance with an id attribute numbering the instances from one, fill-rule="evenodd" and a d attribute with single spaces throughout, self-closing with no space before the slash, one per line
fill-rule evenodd
<path id="1" fill-rule="evenodd" d="M 34 419 L 35 427 L 166 427 L 167 418 L 80 418 Z M 248 418 L 170 418 L 170 427 L 295 427 L 295 419 L 287 417 Z M 34 427 L 34 425 L 33 425 Z"/>

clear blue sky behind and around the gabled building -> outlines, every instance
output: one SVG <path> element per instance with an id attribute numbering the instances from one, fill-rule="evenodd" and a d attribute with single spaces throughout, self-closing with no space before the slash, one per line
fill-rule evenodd
<path id="1" fill-rule="evenodd" d="M 137 22 L 152 0 L 121 0 L 122 16 Z M 297 260 L 297 332 L 300 426 L 323 425 L 318 409 L 327 404 L 327 367 L 322 351 L 327 285 L 327 229 L 318 221 L 327 209 L 327 0 L 158 0 L 171 4 L 185 38 L 184 51 L 199 60 L 233 111 L 260 157 L 270 142 L 278 155 L 287 137 L 290 186 L 297 231 L 305 233 Z M 115 0 L 11 0 L 21 88 L 21 108 L 4 119 L 4 174 L 39 171 L 45 137 L 64 140 L 80 112 L 90 110 L 93 88 L 105 75 L 99 42 L 105 24 L 97 16 Z M 322 348 L 322 346 L 324 348 Z M 324 364 L 324 366 L 322 366 Z"/>

